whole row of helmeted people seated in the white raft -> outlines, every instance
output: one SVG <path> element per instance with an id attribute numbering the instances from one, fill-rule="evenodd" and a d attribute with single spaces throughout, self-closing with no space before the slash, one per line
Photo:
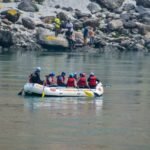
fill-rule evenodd
<path id="1" fill-rule="evenodd" d="M 89 77 L 86 78 L 85 73 L 80 73 L 79 77 L 77 73 L 69 74 L 66 78 L 66 73 L 62 72 L 60 75 L 55 76 L 55 73 L 51 72 L 46 75 L 46 80 L 42 81 L 40 79 L 41 68 L 37 67 L 35 71 L 29 76 L 30 83 L 38 83 L 45 86 L 63 86 L 63 87 L 78 87 L 78 88 L 95 88 L 100 80 L 94 75 L 93 72 L 90 73 Z"/>

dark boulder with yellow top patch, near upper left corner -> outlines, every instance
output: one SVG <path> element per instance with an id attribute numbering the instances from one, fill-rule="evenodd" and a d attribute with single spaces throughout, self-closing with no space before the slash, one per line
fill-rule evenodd
<path id="1" fill-rule="evenodd" d="M 9 9 L 6 11 L 2 11 L 1 15 L 3 16 L 2 18 L 6 18 L 9 21 L 15 23 L 20 17 L 20 12 L 16 9 Z"/>

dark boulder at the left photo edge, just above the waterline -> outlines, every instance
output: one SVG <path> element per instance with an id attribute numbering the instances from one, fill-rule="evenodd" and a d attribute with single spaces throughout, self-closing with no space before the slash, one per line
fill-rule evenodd
<path id="1" fill-rule="evenodd" d="M 13 45 L 12 33 L 0 30 L 0 46 L 10 47 L 11 45 Z"/>

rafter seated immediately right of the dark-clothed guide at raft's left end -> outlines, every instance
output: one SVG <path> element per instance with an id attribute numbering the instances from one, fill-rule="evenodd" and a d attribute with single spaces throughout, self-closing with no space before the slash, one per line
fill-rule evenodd
<path id="1" fill-rule="evenodd" d="M 46 85 L 47 86 L 56 85 L 55 73 L 54 72 L 51 72 L 49 75 L 46 75 Z"/>

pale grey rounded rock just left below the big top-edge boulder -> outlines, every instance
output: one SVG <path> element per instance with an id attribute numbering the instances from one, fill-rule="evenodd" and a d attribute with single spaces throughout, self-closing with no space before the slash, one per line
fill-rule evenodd
<path id="1" fill-rule="evenodd" d="M 91 11 L 92 14 L 100 12 L 102 10 L 102 8 L 94 2 L 89 3 L 87 8 Z"/>

